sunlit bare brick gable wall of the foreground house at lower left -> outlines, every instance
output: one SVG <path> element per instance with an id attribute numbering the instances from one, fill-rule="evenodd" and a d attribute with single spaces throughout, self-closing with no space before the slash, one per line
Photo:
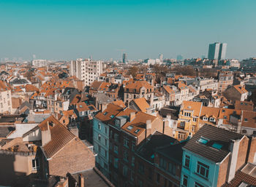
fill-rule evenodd
<path id="1" fill-rule="evenodd" d="M 75 173 L 92 169 L 95 157 L 86 145 L 78 138 L 69 142 L 48 162 L 49 174 L 66 176 L 67 172 Z"/>

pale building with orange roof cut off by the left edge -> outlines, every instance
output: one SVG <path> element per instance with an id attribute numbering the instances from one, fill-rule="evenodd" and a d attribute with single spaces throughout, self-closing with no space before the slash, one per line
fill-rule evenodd
<path id="1" fill-rule="evenodd" d="M 7 83 L 0 81 L 0 112 L 11 113 L 12 111 L 12 96 L 11 89 L 7 87 Z"/>

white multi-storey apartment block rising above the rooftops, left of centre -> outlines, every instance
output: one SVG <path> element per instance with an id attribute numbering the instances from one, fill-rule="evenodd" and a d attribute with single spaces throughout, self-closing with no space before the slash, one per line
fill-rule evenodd
<path id="1" fill-rule="evenodd" d="M 76 76 L 85 82 L 85 86 L 91 85 L 97 77 L 102 74 L 102 61 L 94 61 L 90 59 L 72 60 L 70 65 L 70 75 Z"/>

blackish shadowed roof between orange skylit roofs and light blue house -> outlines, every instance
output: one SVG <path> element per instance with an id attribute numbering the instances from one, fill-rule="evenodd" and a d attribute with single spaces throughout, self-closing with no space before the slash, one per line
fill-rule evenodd
<path id="1" fill-rule="evenodd" d="M 176 145 L 177 143 L 179 142 L 175 138 L 164 135 L 160 132 L 154 132 L 154 134 L 151 135 L 150 140 L 138 149 L 137 154 L 153 163 L 153 155 L 157 148 L 162 146 Z"/>

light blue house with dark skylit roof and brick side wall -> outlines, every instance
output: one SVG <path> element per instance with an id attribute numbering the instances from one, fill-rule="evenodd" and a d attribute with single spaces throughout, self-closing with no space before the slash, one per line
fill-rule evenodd
<path id="1" fill-rule="evenodd" d="M 183 147 L 181 186 L 219 187 L 246 163 L 249 138 L 204 125 Z"/>

